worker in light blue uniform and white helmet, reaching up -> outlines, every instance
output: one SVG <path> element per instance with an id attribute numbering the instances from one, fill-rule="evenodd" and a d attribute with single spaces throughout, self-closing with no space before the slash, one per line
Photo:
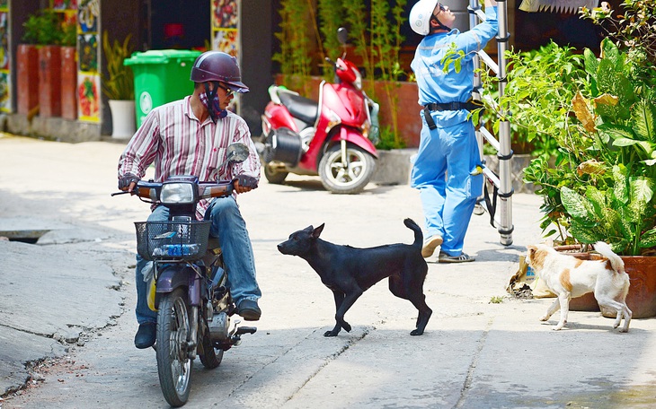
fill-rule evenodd
<path id="1" fill-rule="evenodd" d="M 460 32 L 453 29 L 454 13 L 437 0 L 419 0 L 410 12 L 412 30 L 426 36 L 411 64 L 423 107 L 411 184 L 420 192 L 425 217 L 427 239 L 421 255 L 430 257 L 441 246 L 439 263 L 474 261 L 463 252 L 463 245 L 476 197 L 483 191 L 483 174 L 468 116 L 474 109 L 474 55 L 499 30 L 496 1 L 485 0 L 485 17 L 485 22 Z M 460 70 L 455 64 L 445 70 L 445 55 L 452 52 L 457 58 L 460 51 L 464 53 Z"/>

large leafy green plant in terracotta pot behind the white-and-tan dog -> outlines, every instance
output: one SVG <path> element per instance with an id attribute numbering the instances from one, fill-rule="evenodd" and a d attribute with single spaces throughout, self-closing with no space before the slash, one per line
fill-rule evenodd
<path id="1" fill-rule="evenodd" d="M 648 2 L 647 20 L 654 15 Z M 510 81 L 502 103 L 559 145 L 552 161 L 538 158 L 525 170 L 545 199 L 545 236 L 583 250 L 597 240 L 610 244 L 631 277 L 627 304 L 645 318 L 656 315 L 656 68 L 644 48 L 624 44 L 603 39 L 599 57 L 589 49 L 582 57 L 563 52 L 552 69 L 568 81 Z M 516 78 L 535 68 L 518 55 L 510 59 Z"/>

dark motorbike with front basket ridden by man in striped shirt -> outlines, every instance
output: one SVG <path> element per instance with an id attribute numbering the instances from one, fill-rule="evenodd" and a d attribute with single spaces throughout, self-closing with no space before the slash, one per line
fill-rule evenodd
<path id="1" fill-rule="evenodd" d="M 247 157 L 246 145 L 231 144 L 222 167 Z M 139 180 L 132 191 L 143 202 L 169 209 L 167 222 L 135 226 L 137 253 L 152 262 L 148 305 L 157 310 L 157 374 L 166 402 L 175 407 L 187 403 L 197 356 L 205 368 L 215 369 L 224 352 L 241 343 L 241 335 L 257 331 L 254 326 L 238 326 L 236 319 L 230 328 L 236 307 L 226 286 L 228 272 L 218 239 L 209 237 L 210 221 L 195 218 L 200 199 L 230 196 L 233 188 L 232 182 L 172 176 L 164 183 Z"/>

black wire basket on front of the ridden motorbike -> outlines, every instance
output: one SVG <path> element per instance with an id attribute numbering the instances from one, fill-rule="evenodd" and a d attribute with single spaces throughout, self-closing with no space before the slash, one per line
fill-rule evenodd
<path id="1" fill-rule="evenodd" d="M 148 261 L 196 260 L 208 250 L 212 222 L 135 222 L 137 253 Z"/>

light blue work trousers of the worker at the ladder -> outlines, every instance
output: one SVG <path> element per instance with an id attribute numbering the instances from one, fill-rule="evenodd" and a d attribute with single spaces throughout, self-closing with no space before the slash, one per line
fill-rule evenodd
<path id="1" fill-rule="evenodd" d="M 439 234 L 444 239 L 440 251 L 459 256 L 476 197 L 483 192 L 483 175 L 472 175 L 481 164 L 472 123 L 445 122 L 436 119 L 438 127 L 431 131 L 423 121 L 411 186 L 420 192 L 427 237 Z"/>

